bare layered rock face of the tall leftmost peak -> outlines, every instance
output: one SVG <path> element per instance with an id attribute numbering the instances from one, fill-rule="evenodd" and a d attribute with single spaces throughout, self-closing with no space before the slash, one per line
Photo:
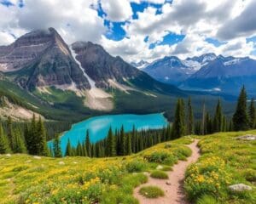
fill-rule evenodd
<path id="1" fill-rule="evenodd" d="M 27 33 L 0 47 L 0 71 L 22 88 L 72 86 L 90 88 L 67 44 L 54 28 Z"/>

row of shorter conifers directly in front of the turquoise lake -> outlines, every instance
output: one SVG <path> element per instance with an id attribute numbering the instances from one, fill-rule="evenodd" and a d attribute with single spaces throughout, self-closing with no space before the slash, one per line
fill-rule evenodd
<path id="1" fill-rule="evenodd" d="M 127 156 L 171 139 L 170 125 L 158 130 L 148 129 L 141 131 L 137 131 L 133 127 L 130 133 L 125 133 L 124 126 L 115 131 L 113 131 L 112 127 L 109 127 L 106 139 L 96 143 L 90 142 L 90 135 L 87 130 L 84 142 L 79 141 L 76 147 L 72 146 L 70 140 L 67 141 L 64 156 Z M 62 156 L 59 136 L 56 136 L 53 142 L 52 152 L 55 157 Z"/>

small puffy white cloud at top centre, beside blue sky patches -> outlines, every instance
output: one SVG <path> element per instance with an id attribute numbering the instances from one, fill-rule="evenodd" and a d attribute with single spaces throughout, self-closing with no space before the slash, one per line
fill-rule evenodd
<path id="1" fill-rule="evenodd" d="M 101 3 L 108 20 L 120 22 L 131 18 L 132 9 L 128 0 L 102 0 Z"/>

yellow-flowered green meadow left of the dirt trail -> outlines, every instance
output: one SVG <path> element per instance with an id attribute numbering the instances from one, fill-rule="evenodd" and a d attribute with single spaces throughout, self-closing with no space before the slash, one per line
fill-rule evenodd
<path id="1" fill-rule="evenodd" d="M 64 157 L 35 159 L 33 156 L 0 156 L 0 201 L 2 203 L 123 203 L 137 204 L 134 188 L 148 181 L 143 172 L 158 163 L 147 161 L 155 151 L 164 150 L 177 161 L 188 154 L 184 137 L 143 150 L 132 156 L 113 158 Z M 60 165 L 59 162 L 64 162 Z"/>

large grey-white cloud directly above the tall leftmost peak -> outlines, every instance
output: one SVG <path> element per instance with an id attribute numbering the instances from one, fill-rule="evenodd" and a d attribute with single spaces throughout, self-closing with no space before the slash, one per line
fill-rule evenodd
<path id="1" fill-rule="evenodd" d="M 19 1 L 14 1 L 18 3 Z M 68 43 L 77 40 L 99 42 L 106 31 L 98 16 L 96 0 L 24 0 L 24 7 L 0 4 L 0 31 L 20 37 L 27 31 L 55 27 Z M 3 18 L 1 18 L 3 16 Z"/>

